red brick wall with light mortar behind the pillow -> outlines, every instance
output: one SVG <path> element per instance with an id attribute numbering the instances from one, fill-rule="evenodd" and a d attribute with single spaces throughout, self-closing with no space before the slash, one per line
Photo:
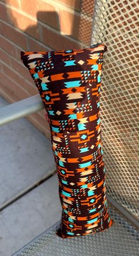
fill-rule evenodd
<path id="1" fill-rule="evenodd" d="M 13 103 L 37 95 L 20 51 L 48 51 L 90 46 L 92 0 L 0 1 L 0 93 Z M 45 109 L 27 116 L 49 137 Z"/>

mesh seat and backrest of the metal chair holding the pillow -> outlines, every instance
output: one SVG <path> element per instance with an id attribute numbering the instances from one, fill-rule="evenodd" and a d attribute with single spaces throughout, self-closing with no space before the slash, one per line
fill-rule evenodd
<path id="1" fill-rule="evenodd" d="M 72 239 L 55 235 L 59 222 L 13 256 L 138 255 L 138 9 L 137 1 L 95 1 L 91 44 L 105 43 L 101 129 L 107 198 L 115 225 Z"/>

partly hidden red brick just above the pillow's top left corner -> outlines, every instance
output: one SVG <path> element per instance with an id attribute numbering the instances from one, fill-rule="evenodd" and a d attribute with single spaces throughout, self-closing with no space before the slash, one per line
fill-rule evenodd
<path id="1" fill-rule="evenodd" d="M 29 51 L 49 51 L 49 48 L 38 41 L 35 41 L 33 38 L 28 38 L 29 42 Z"/>

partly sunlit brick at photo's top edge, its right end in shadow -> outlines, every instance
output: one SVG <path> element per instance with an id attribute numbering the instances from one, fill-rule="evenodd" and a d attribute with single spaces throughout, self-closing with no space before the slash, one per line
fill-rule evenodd
<path id="1" fill-rule="evenodd" d="M 21 9 L 36 17 L 37 20 L 45 22 L 54 28 L 58 28 L 57 10 L 51 4 L 40 0 L 21 0 Z"/>

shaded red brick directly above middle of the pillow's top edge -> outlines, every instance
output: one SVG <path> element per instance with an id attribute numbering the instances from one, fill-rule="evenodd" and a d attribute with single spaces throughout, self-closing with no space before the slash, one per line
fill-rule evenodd
<path id="1" fill-rule="evenodd" d="M 55 33 L 49 30 L 47 27 L 42 28 L 44 35 L 44 43 L 54 50 L 68 50 L 68 49 L 78 49 L 80 48 L 80 43 L 72 40 L 70 37 L 64 37 L 59 33 Z"/>

